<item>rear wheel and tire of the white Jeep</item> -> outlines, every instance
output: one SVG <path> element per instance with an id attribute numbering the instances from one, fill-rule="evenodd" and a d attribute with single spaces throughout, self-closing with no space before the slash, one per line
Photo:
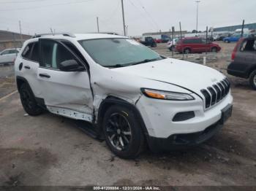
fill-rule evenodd
<path id="1" fill-rule="evenodd" d="M 31 116 L 42 114 L 43 109 L 37 105 L 34 94 L 27 83 L 23 83 L 20 87 L 20 101 L 27 114 Z"/>

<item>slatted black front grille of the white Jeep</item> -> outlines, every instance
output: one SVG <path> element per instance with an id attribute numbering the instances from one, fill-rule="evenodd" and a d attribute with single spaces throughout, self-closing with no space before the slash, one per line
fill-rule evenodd
<path id="1" fill-rule="evenodd" d="M 207 89 L 202 89 L 201 93 L 204 96 L 205 107 L 206 109 L 210 106 L 214 106 L 219 101 L 221 101 L 227 93 L 230 91 L 230 82 L 227 78 L 223 79 L 217 84 L 207 87 Z"/>

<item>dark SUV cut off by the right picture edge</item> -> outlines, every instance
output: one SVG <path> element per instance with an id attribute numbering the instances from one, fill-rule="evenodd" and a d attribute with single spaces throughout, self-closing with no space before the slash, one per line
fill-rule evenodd
<path id="1" fill-rule="evenodd" d="M 227 73 L 249 79 L 249 84 L 256 90 L 256 38 L 241 38 L 232 52 L 231 59 Z"/>

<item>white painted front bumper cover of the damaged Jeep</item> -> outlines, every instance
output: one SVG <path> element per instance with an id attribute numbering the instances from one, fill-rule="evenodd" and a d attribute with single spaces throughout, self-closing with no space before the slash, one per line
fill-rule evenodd
<path id="1" fill-rule="evenodd" d="M 192 94 L 193 101 L 167 101 L 146 96 L 140 97 L 136 104 L 148 131 L 148 136 L 167 139 L 175 134 L 188 134 L 202 132 L 211 125 L 219 122 L 222 109 L 232 104 L 233 97 L 230 93 L 222 101 L 204 109 L 203 100 Z M 173 121 L 179 112 L 194 112 L 195 117 L 189 120 Z"/>

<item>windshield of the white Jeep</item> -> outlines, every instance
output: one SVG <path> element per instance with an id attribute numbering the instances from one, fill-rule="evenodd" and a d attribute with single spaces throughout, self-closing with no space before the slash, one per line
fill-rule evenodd
<path id="1" fill-rule="evenodd" d="M 101 66 L 123 67 L 163 59 L 132 39 L 89 39 L 80 41 L 91 58 Z"/>

